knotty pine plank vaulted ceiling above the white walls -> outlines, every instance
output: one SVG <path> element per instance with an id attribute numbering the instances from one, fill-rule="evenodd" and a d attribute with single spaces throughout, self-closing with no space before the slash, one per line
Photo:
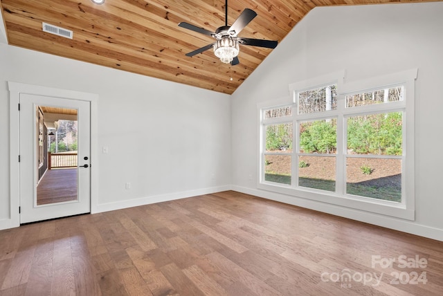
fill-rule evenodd
<path id="1" fill-rule="evenodd" d="M 251 8 L 257 17 L 239 35 L 281 41 L 316 6 L 365 3 L 399 1 L 231 0 L 228 24 L 244 8 Z M 214 32 L 224 26 L 224 4 L 224 0 L 105 0 L 102 5 L 91 0 L 1 0 L 11 45 L 231 94 L 271 49 L 241 45 L 236 66 L 221 63 L 213 50 L 186 57 L 185 53 L 214 39 L 177 26 L 186 21 Z M 73 39 L 44 33 L 42 22 L 72 30 Z"/>

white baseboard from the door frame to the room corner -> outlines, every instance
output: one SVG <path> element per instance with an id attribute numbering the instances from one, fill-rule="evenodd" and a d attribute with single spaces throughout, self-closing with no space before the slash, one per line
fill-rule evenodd
<path id="1" fill-rule="evenodd" d="M 139 205 L 149 205 L 151 203 L 161 203 L 163 201 L 173 201 L 175 199 L 187 198 L 191 196 L 199 196 L 204 194 L 211 194 L 230 190 L 230 185 L 222 185 L 217 187 L 209 187 L 203 189 L 195 189 L 186 192 L 174 192 L 170 194 L 161 194 L 155 196 L 146 196 L 142 198 L 135 198 L 126 201 L 116 201 L 114 203 L 102 203 L 91 208 L 91 214 L 100 212 L 109 212 L 114 210 L 125 209 L 127 207 L 137 207 Z"/>

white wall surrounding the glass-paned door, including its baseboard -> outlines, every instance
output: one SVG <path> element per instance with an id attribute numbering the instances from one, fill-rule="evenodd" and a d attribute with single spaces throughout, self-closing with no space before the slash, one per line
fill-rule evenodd
<path id="1" fill-rule="evenodd" d="M 230 95 L 0 43 L 0 226 L 10 218 L 8 81 L 99 95 L 97 211 L 230 186 Z"/>

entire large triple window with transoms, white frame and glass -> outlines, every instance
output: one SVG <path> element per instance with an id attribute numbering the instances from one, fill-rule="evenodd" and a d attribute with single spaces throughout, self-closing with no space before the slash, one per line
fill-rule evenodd
<path id="1" fill-rule="evenodd" d="M 291 85 L 292 102 L 259 108 L 258 187 L 413 220 L 416 76 Z"/>

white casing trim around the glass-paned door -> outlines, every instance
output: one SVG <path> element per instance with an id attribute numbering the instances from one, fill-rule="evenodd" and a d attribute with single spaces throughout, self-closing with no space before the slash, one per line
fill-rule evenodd
<path id="1" fill-rule="evenodd" d="M 20 225 L 20 170 L 19 170 L 19 139 L 20 118 L 19 99 L 21 93 L 43 95 L 52 98 L 82 100 L 91 103 L 91 214 L 97 212 L 98 205 L 98 95 L 66 89 L 53 89 L 46 86 L 8 82 L 10 92 L 10 227 Z"/>

